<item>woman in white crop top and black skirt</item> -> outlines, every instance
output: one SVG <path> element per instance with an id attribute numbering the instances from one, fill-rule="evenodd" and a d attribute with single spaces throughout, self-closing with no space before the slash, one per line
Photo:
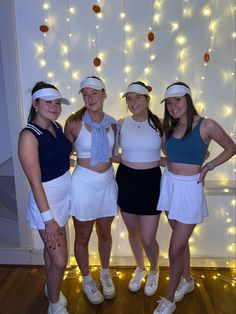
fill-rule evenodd
<path id="1" fill-rule="evenodd" d="M 132 116 L 119 120 L 122 153 L 116 181 L 118 205 L 137 263 L 129 290 L 138 291 L 146 276 L 144 251 L 150 263 L 144 293 L 151 296 L 157 290 L 159 277 L 156 233 L 161 211 L 157 211 L 156 206 L 160 193 L 159 164 L 163 131 L 160 120 L 148 107 L 149 89 L 143 82 L 130 84 L 123 97 L 126 97 Z"/>

